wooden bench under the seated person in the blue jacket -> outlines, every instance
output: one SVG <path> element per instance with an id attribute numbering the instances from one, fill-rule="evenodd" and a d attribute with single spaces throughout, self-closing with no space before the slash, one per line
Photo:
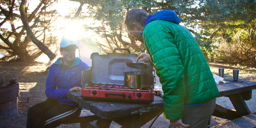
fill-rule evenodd
<path id="1" fill-rule="evenodd" d="M 80 127 L 86 126 L 87 122 L 98 120 L 99 117 L 91 113 L 89 110 L 82 110 L 79 117 L 69 120 L 64 124 L 80 123 Z"/>

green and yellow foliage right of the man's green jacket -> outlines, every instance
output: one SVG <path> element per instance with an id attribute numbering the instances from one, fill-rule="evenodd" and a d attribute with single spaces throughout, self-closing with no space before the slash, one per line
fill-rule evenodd
<path id="1" fill-rule="evenodd" d="M 166 0 L 163 5 L 194 33 L 206 58 L 256 65 L 255 0 Z"/>

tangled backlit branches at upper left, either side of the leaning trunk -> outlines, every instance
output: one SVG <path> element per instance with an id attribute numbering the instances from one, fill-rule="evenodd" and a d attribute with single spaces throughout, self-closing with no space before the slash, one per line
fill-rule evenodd
<path id="1" fill-rule="evenodd" d="M 56 10 L 46 11 L 55 0 L 42 0 L 37 8 L 33 11 L 29 10 L 29 4 L 25 7 L 25 15 L 35 38 L 46 46 L 56 43 L 56 37 L 51 33 L 54 31 L 54 22 L 58 16 Z M 1 1 L 1 17 L 0 17 L 0 51 L 5 53 L 2 61 L 21 60 L 31 62 L 39 57 L 43 52 L 37 46 L 31 43 L 29 35 L 25 32 L 25 27 L 20 24 L 20 15 L 18 14 L 19 1 L 4 0 Z"/>

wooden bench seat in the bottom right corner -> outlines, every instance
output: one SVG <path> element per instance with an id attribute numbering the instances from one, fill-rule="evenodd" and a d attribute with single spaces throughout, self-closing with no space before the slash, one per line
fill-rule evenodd
<path id="1" fill-rule="evenodd" d="M 256 112 L 211 128 L 256 128 Z"/>

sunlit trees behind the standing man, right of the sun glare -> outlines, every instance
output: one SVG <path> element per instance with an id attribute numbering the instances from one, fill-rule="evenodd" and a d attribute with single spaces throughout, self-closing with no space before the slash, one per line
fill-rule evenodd
<path id="1" fill-rule="evenodd" d="M 125 13 L 132 8 L 144 9 L 149 14 L 166 9 L 177 13 L 182 24 L 194 34 L 206 58 L 215 55 L 215 60 L 221 62 L 255 64 L 254 0 L 82 1 L 88 4 L 90 16 L 102 23 L 99 27 L 106 30 L 97 31 L 107 42 L 106 45 L 98 45 L 103 51 L 110 49 L 105 53 L 114 47 L 128 47 L 135 52 L 143 52 L 144 46 L 134 42 L 122 28 Z M 91 29 L 97 30 L 97 27 Z M 223 43 L 227 47 L 223 48 Z"/>

